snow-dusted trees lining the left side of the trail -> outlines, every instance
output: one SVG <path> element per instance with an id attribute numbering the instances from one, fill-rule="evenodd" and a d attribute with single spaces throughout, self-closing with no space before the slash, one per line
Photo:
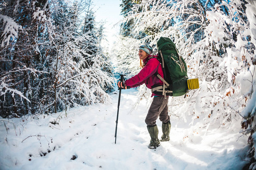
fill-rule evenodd
<path id="1" fill-rule="evenodd" d="M 109 61 L 92 27 L 93 13 L 81 18 L 90 3 L 1 2 L 0 116 L 52 113 L 108 101 L 105 91 L 113 78 L 102 68 Z"/>

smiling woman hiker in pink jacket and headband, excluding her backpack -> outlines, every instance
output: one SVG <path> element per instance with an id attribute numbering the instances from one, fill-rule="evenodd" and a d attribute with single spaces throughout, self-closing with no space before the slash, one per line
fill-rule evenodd
<path id="1" fill-rule="evenodd" d="M 150 45 L 142 45 L 139 47 L 139 59 L 143 61 L 143 64 L 141 62 L 142 70 L 125 82 L 118 82 L 118 87 L 127 89 L 127 87 L 138 87 L 145 83 L 148 88 L 152 89 L 153 86 L 163 85 L 163 82 L 155 75 L 155 73 L 158 73 L 163 78 L 162 66 L 157 56 L 152 56 L 152 48 Z M 168 116 L 168 96 L 156 95 L 154 92 L 151 97 L 153 96 L 154 99 L 145 120 L 148 133 L 151 137 L 148 148 L 160 146 L 158 127 L 156 126 L 158 117 L 160 121 L 162 121 L 163 135 L 161 142 L 170 140 L 169 134 L 171 130 L 170 117 Z"/>

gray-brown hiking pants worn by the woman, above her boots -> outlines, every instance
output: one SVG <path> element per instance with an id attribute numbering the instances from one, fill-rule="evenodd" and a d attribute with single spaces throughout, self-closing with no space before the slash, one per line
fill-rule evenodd
<path id="1" fill-rule="evenodd" d="M 164 123 L 170 120 L 170 117 L 168 116 L 168 99 L 169 96 L 166 96 L 166 99 L 164 99 L 164 96 L 154 97 L 145 120 L 147 125 L 156 125 L 158 117 L 160 121 Z"/>

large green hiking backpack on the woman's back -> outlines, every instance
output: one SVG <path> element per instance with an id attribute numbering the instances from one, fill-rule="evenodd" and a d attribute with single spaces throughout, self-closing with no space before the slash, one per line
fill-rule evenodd
<path id="1" fill-rule="evenodd" d="M 164 79 L 158 74 L 164 84 L 152 88 L 152 92 L 162 92 L 164 96 L 182 96 L 188 91 L 187 65 L 179 56 L 174 42 L 168 37 L 160 37 L 157 42 L 159 61 L 162 63 Z"/>

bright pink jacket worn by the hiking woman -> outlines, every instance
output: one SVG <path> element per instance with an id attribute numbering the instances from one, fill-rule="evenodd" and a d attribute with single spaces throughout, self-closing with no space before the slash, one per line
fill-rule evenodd
<path id="1" fill-rule="evenodd" d="M 163 70 L 160 62 L 157 58 L 150 57 L 158 57 L 158 56 L 148 56 L 143 60 L 143 63 L 146 63 L 146 66 L 135 76 L 125 81 L 125 86 L 130 87 L 138 87 L 141 84 L 145 83 L 147 88 L 152 88 L 155 84 L 163 84 L 162 80 L 160 80 L 155 73 L 157 72 L 160 76 L 163 77 Z M 150 58 L 150 59 L 148 59 Z M 154 94 L 152 94 L 154 95 Z"/>

